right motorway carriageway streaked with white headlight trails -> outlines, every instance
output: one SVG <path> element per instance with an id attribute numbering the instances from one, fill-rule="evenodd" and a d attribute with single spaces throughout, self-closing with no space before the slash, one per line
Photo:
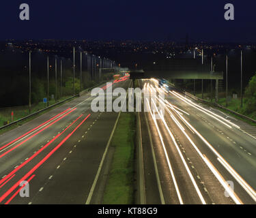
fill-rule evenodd
<path id="1" fill-rule="evenodd" d="M 140 83 L 165 96 L 141 113 L 146 203 L 255 204 L 256 139 L 158 80 Z"/>

